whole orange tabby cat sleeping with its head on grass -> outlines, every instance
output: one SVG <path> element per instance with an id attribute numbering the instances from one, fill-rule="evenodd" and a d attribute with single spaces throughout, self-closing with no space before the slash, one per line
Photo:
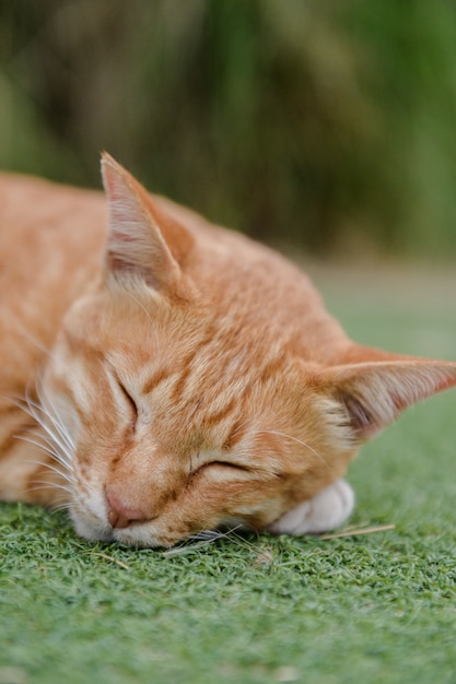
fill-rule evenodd
<path id="1" fill-rule="evenodd" d="M 456 364 L 355 344 L 285 259 L 102 168 L 107 202 L 0 180 L 0 498 L 144 546 L 342 523 L 359 446 Z"/>

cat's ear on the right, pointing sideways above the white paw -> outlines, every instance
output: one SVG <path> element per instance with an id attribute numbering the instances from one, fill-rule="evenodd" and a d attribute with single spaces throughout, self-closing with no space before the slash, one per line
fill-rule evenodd
<path id="1" fill-rule="evenodd" d="M 367 362 L 325 372 L 325 390 L 340 402 L 354 441 L 365 441 L 411 404 L 456 387 L 456 363 Z"/>

